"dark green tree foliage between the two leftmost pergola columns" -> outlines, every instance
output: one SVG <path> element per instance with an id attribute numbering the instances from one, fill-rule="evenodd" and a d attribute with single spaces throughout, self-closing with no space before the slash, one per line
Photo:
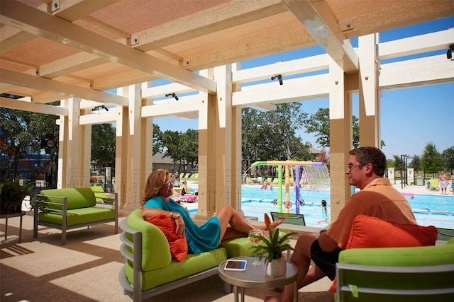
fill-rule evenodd
<path id="1" fill-rule="evenodd" d="M 116 130 L 112 124 L 92 126 L 92 161 L 109 167 L 115 165 Z"/>

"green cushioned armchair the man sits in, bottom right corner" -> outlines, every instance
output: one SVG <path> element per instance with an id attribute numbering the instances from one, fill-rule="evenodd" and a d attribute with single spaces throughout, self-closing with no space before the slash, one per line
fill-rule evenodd
<path id="1" fill-rule="evenodd" d="M 453 301 L 454 238 L 415 248 L 343 250 L 336 301 Z"/>

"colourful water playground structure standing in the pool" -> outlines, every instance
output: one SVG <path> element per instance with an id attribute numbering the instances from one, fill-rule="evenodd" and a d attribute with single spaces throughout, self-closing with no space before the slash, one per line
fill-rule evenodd
<path id="1" fill-rule="evenodd" d="M 285 212 L 289 213 L 292 207 L 290 201 L 290 168 L 295 167 L 295 212 L 299 214 L 299 207 L 304 205 L 304 200 L 300 197 L 300 177 L 301 167 L 306 171 L 307 185 L 309 190 L 329 190 L 328 169 L 323 162 L 312 161 L 256 161 L 250 168 L 255 168 L 258 165 L 276 165 L 277 166 L 277 210 L 282 213 L 282 169 L 285 166 Z M 249 170 L 249 169 L 248 169 Z"/>

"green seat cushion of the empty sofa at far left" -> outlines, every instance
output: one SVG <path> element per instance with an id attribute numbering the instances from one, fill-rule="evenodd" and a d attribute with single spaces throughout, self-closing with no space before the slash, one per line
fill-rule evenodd
<path id="1" fill-rule="evenodd" d="M 54 223 L 62 225 L 62 212 L 61 211 L 41 211 L 38 213 L 39 221 Z M 73 226 L 79 223 L 89 223 L 93 221 L 102 221 L 104 219 L 114 219 L 114 209 L 102 209 L 102 208 L 82 208 L 82 209 L 71 209 L 67 211 L 67 226 Z"/>

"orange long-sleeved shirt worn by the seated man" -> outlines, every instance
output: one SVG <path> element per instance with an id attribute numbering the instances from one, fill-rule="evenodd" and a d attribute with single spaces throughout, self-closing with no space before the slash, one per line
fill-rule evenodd
<path id="1" fill-rule="evenodd" d="M 416 224 L 409 202 L 391 186 L 387 178 L 372 180 L 360 192 L 353 194 L 338 219 L 328 228 L 326 235 L 335 240 L 339 248 L 345 249 L 353 220 L 359 214 L 395 223 Z"/>

